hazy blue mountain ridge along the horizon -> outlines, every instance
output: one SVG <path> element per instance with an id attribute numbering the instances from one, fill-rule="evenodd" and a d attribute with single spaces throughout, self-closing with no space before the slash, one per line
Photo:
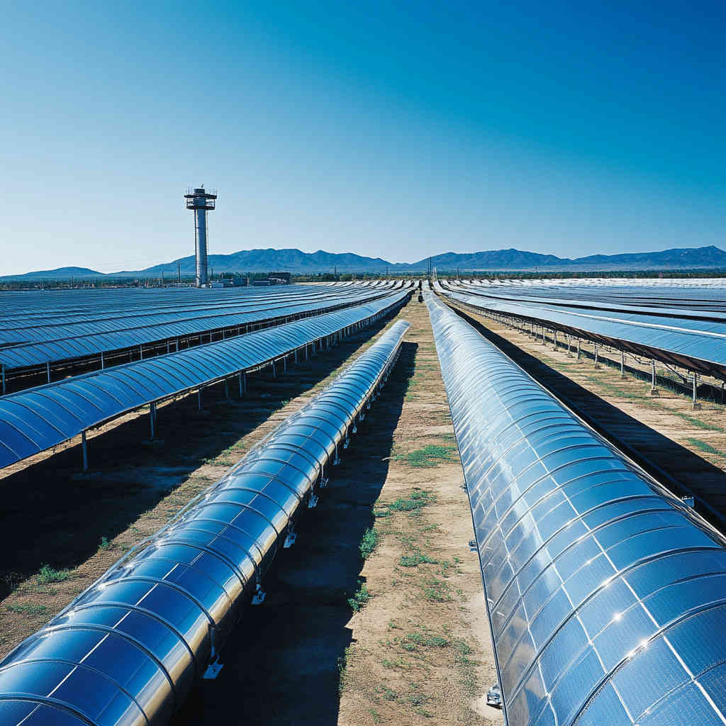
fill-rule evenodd
<path id="1" fill-rule="evenodd" d="M 297 249 L 240 250 L 229 255 L 210 255 L 209 267 L 218 272 L 273 272 L 276 270 L 296 274 L 318 272 L 388 272 L 414 273 L 428 269 L 428 257 L 413 263 L 391 263 L 380 257 L 364 257 L 354 253 L 332 253 L 318 250 L 313 253 Z M 431 258 L 431 264 L 439 272 L 556 270 L 613 271 L 637 269 L 726 269 L 726 252 L 714 245 L 698 248 L 674 248 L 662 252 L 637 252 L 619 255 L 590 255 L 575 259 L 544 255 L 536 252 L 515 250 L 487 250 L 475 253 L 446 252 Z M 172 262 L 154 265 L 142 270 L 124 270 L 103 274 L 86 267 L 60 267 L 54 270 L 7 275 L 0 280 L 77 280 L 89 278 L 176 277 L 177 269 L 189 277 L 195 272 L 194 256 L 182 257 Z"/>

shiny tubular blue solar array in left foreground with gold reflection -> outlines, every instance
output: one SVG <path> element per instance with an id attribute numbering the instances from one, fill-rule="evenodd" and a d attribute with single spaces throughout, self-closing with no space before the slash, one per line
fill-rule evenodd
<path id="1" fill-rule="evenodd" d="M 144 548 L 0 663 L 0 722 L 158 726 L 256 592 L 396 362 L 396 322 Z"/>

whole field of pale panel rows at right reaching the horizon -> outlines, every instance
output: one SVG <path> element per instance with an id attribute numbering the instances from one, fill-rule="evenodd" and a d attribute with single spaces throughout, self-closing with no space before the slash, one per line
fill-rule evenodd
<path id="1" fill-rule="evenodd" d="M 438 283 L 437 283 L 438 285 Z M 443 282 L 454 301 L 567 335 L 600 341 L 632 354 L 726 380 L 726 303 L 719 289 L 664 286 L 478 285 Z M 677 292 L 676 292 L 677 291 Z M 661 306 L 653 301 L 659 301 Z"/>

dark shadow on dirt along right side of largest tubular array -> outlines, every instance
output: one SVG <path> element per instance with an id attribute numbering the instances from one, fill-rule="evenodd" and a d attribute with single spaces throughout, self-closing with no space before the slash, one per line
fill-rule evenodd
<path id="1" fill-rule="evenodd" d="M 454 312 L 674 494 L 695 494 L 703 500 L 696 509 L 717 529 L 725 531 L 726 473 L 587 388 L 579 386 L 468 314 L 455 309 Z"/>

